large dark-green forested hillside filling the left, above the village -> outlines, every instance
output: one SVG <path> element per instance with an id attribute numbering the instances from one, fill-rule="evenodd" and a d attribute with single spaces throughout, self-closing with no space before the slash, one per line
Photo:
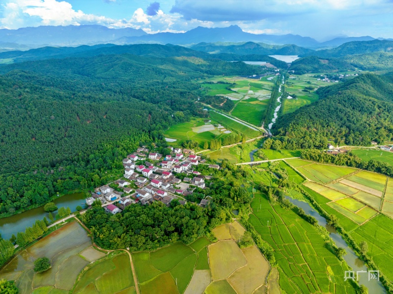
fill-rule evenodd
<path id="1" fill-rule="evenodd" d="M 107 183 L 140 142 L 164 150 L 163 131 L 200 113 L 194 80 L 259 70 L 131 54 L 0 66 L 0 215 Z"/>

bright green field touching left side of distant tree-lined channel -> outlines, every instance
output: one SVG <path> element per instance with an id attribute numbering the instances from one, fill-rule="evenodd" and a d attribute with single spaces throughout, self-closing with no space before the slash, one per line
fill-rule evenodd
<path id="1" fill-rule="evenodd" d="M 254 126 L 260 126 L 265 117 L 268 100 L 258 101 L 255 98 L 242 100 L 232 110 L 231 114 Z"/>

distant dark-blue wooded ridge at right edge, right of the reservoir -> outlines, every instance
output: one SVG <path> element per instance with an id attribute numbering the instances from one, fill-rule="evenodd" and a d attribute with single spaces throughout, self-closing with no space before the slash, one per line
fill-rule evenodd
<path id="1" fill-rule="evenodd" d="M 353 41 L 344 43 L 337 48 L 319 50 L 314 53 L 305 53 L 301 56 L 317 55 L 319 57 L 342 57 L 374 52 L 392 52 L 392 50 L 393 41 L 389 40 Z"/>

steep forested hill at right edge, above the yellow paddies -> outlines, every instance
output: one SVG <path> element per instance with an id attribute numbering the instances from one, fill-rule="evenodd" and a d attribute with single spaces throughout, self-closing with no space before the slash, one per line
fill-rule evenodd
<path id="1" fill-rule="evenodd" d="M 326 148 L 327 139 L 370 145 L 393 138 L 393 75 L 364 74 L 317 90 L 320 99 L 283 115 L 273 133 L 287 149 Z M 341 142 L 341 138 L 344 139 Z"/>

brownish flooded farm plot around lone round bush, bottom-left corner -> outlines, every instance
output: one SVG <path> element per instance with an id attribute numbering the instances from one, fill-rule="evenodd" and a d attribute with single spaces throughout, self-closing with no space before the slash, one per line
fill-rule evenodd
<path id="1" fill-rule="evenodd" d="M 35 289 L 40 292 L 38 288 L 51 286 L 52 292 L 59 290 L 57 288 L 71 290 L 79 272 L 88 264 L 78 254 L 90 245 L 84 228 L 78 222 L 71 222 L 19 253 L 1 269 L 0 278 L 15 280 L 21 294 L 29 294 Z M 52 267 L 34 273 L 34 260 L 44 256 L 50 259 Z"/>

